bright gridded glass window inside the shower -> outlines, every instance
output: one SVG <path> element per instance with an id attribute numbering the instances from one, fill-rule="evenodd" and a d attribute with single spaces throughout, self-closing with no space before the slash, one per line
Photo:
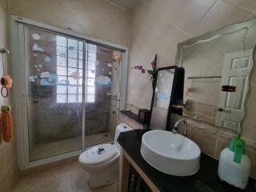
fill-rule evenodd
<path id="1" fill-rule="evenodd" d="M 57 38 L 57 102 L 82 102 L 83 69 L 85 69 L 85 102 L 95 102 L 97 46 L 72 38 Z M 86 65 L 83 57 L 86 55 Z M 88 57 L 87 57 L 88 56 Z M 66 96 L 65 96 L 66 94 Z"/>

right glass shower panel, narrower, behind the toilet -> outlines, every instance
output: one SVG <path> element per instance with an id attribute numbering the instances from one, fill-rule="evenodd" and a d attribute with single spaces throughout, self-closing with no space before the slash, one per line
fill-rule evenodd
<path id="1" fill-rule="evenodd" d="M 86 43 L 85 147 L 114 140 L 120 105 L 122 51 Z"/>

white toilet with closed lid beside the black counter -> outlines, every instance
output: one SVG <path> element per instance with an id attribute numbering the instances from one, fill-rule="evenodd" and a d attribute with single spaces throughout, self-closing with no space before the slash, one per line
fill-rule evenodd
<path id="1" fill-rule="evenodd" d="M 120 146 L 117 142 L 121 132 L 132 130 L 126 123 L 116 127 L 114 144 L 92 146 L 79 156 L 82 168 L 90 173 L 91 187 L 105 186 L 118 181 Z"/>

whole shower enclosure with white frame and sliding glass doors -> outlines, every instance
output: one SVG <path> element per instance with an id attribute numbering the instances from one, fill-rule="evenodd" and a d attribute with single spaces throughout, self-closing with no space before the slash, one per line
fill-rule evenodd
<path id="1" fill-rule="evenodd" d="M 22 169 L 114 140 L 126 47 L 12 16 L 14 113 Z"/>

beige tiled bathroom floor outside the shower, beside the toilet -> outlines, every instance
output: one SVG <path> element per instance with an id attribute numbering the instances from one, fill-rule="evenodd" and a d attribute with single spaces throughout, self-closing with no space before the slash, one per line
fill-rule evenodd
<path id="1" fill-rule="evenodd" d="M 118 192 L 118 183 L 92 189 L 88 179 L 78 162 L 70 162 L 20 178 L 14 192 Z"/>

